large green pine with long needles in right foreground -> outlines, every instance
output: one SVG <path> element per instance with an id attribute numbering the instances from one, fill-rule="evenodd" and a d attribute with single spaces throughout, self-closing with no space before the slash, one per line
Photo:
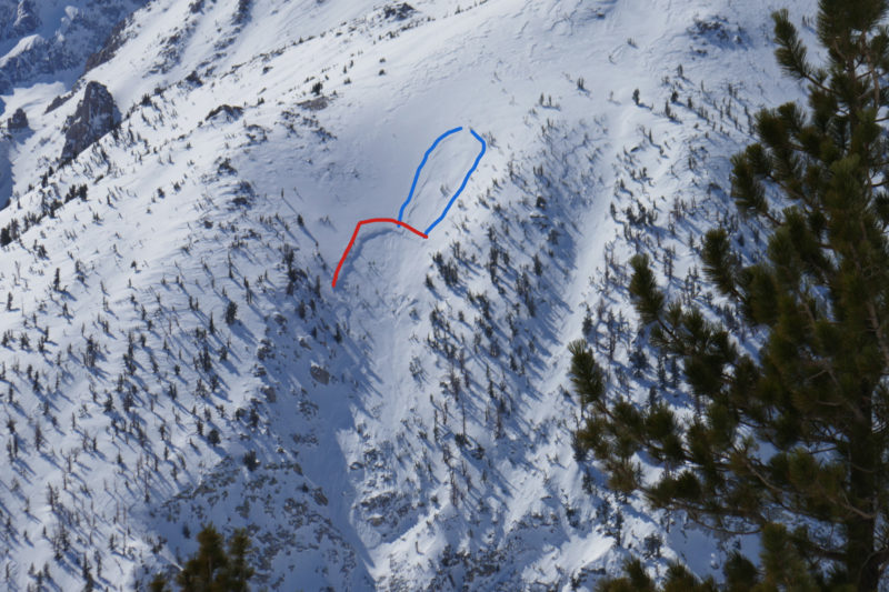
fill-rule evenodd
<path id="1" fill-rule="evenodd" d="M 889 562 L 889 29 L 886 0 L 821 0 L 816 67 L 772 16 L 782 69 L 807 88 L 756 118 L 731 193 L 768 233 L 751 261 L 707 233 L 708 279 L 761 335 L 758 355 L 726 325 L 672 301 L 648 258 L 629 285 L 651 344 L 682 362 L 699 412 L 607 394 L 585 343 L 570 345 L 585 413 L 576 433 L 612 488 L 728 534 L 759 534 L 759 566 L 732 555 L 729 590 L 877 590 Z M 637 453 L 659 462 L 643 476 Z M 709 590 L 679 566 L 666 589 Z M 686 582 L 683 584 L 682 582 Z M 671 588 L 672 586 L 672 588 Z M 700 586 L 700 588 L 697 588 Z M 602 590 L 653 590 L 638 563 Z"/>

